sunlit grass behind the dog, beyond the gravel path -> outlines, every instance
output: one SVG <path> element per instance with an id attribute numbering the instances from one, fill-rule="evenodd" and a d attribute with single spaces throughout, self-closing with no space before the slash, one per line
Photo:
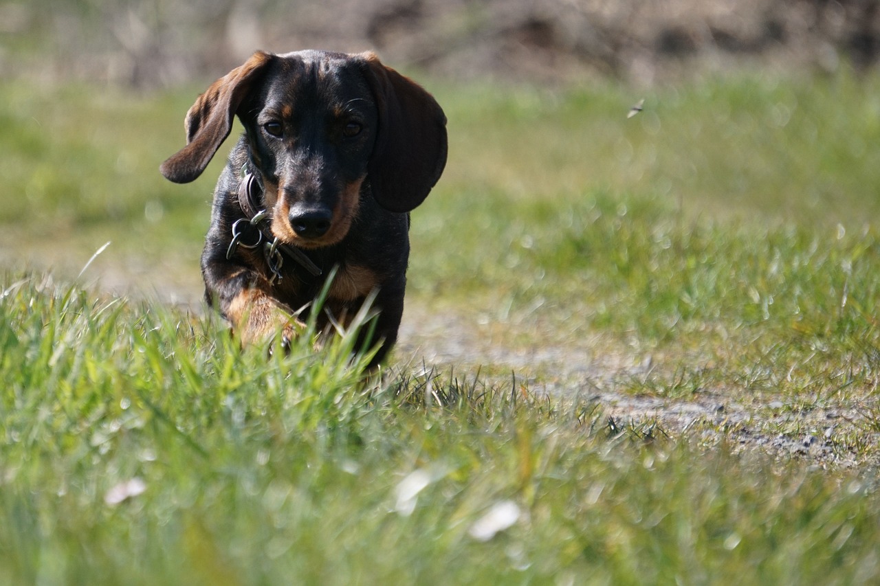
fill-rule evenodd
<path id="1" fill-rule="evenodd" d="M 666 356 L 670 376 L 874 388 L 877 83 L 429 84 L 450 161 L 414 212 L 409 306 L 510 348 L 608 343 Z M 187 186 L 156 172 L 197 90 L 2 92 L 4 261 L 70 278 L 112 240 L 86 278 L 198 298 L 223 153 Z"/>

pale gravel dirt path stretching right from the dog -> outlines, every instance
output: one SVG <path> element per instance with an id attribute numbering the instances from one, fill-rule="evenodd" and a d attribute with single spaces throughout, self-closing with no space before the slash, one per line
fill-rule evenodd
<path id="1" fill-rule="evenodd" d="M 708 446 L 726 442 L 735 451 L 758 450 L 781 462 L 796 458 L 823 467 L 880 465 L 876 450 L 860 450 L 860 443 L 880 442 L 864 408 L 798 411 L 775 399 L 750 406 L 731 400 L 737 393 L 722 389 L 701 389 L 686 399 L 633 392 L 661 365 L 651 358 L 597 350 L 596 341 L 586 341 L 582 348 L 506 348 L 488 341 L 478 329 L 460 316 L 410 303 L 397 355 L 414 356 L 429 367 L 464 377 L 473 377 L 478 369 L 506 372 L 498 377 L 502 385 L 515 376 L 532 392 L 595 401 L 611 431 L 687 435 Z"/>

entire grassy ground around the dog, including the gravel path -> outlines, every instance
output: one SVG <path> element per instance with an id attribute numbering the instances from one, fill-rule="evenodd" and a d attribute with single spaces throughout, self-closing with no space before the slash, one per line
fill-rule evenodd
<path id="1" fill-rule="evenodd" d="M 381 380 L 194 301 L 200 88 L 0 87 L 0 582 L 877 582 L 880 77 L 428 85 Z"/>

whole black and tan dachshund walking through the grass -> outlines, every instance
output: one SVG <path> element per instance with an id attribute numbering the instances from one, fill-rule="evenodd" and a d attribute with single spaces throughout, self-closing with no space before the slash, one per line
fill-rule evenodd
<path id="1" fill-rule="evenodd" d="M 217 182 L 202 253 L 209 304 L 244 343 L 279 331 L 289 341 L 335 273 L 319 325 L 344 325 L 375 295 L 378 363 L 403 313 L 408 212 L 446 163 L 443 110 L 370 53 L 257 52 L 195 101 L 187 146 L 162 174 L 196 179 L 236 115 L 245 135 Z"/>

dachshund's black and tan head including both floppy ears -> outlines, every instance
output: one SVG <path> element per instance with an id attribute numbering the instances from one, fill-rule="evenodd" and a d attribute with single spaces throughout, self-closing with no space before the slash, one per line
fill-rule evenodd
<path id="1" fill-rule="evenodd" d="M 304 247 L 332 245 L 356 216 L 364 181 L 407 212 L 446 162 L 446 118 L 422 87 L 371 53 L 255 53 L 189 109 L 187 146 L 161 166 L 185 183 L 205 170 L 238 115 L 272 229 Z"/>

